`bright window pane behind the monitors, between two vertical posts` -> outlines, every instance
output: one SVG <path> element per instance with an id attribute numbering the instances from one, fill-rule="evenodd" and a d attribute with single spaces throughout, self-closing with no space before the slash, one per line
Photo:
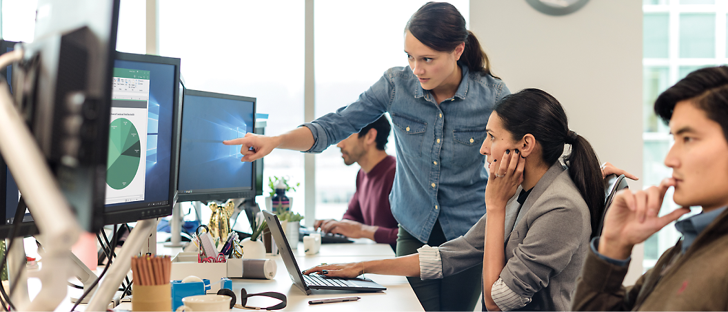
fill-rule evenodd
<path id="1" fill-rule="evenodd" d="M 304 1 L 160 0 L 159 54 L 182 59 L 189 89 L 256 97 L 256 112 L 269 114 L 266 135 L 304 123 Z M 303 153 L 275 150 L 264 166 L 264 194 L 270 176 L 301 183 L 289 196 L 303 214 Z"/>

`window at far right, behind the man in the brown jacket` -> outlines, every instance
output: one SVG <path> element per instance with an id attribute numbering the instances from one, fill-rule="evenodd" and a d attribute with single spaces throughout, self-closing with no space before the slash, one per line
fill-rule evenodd
<path id="1" fill-rule="evenodd" d="M 649 186 L 672 175 L 664 159 L 673 142 L 668 127 L 652 110 L 654 100 L 688 73 L 727 63 L 728 1 L 644 0 L 643 11 L 643 185 Z M 660 214 L 678 208 L 671 200 L 672 190 L 665 199 Z M 680 236 L 673 225 L 668 225 L 650 237 L 644 246 L 645 271 Z"/>

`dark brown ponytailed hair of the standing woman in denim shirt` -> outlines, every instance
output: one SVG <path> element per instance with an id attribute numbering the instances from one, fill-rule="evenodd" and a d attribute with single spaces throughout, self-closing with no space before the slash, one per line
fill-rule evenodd
<path id="1" fill-rule="evenodd" d="M 452 4 L 427 2 L 410 17 L 405 31 L 412 33 L 430 49 L 440 52 L 451 52 L 464 42 L 465 49 L 457 61 L 458 65 L 466 65 L 470 71 L 494 76 L 488 55 L 480 47 L 475 35 L 465 28 L 465 18 Z"/>

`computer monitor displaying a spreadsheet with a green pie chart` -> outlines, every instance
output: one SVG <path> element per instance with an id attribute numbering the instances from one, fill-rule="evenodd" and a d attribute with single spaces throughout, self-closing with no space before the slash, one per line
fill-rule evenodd
<path id="1" fill-rule="evenodd" d="M 104 223 L 172 214 L 177 181 L 180 59 L 116 53 Z"/>

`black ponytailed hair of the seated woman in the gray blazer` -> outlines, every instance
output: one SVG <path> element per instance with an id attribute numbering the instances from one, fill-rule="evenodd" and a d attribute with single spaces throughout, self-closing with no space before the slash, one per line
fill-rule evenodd
<path id="1" fill-rule="evenodd" d="M 561 103 L 542 90 L 523 89 L 503 97 L 494 111 L 513 140 L 521 140 L 529 133 L 533 135 L 541 145 L 543 161 L 549 166 L 558 161 L 564 144 L 571 145 L 571 153 L 566 158 L 569 176 L 589 207 L 593 236 L 604 212 L 604 178 L 589 141 L 569 130 Z"/>

